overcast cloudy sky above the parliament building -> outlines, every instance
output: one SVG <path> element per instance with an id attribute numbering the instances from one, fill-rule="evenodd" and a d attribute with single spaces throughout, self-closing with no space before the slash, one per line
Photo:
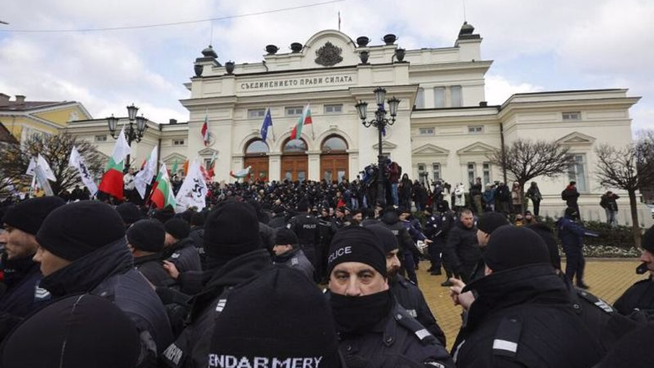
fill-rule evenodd
<path id="1" fill-rule="evenodd" d="M 281 52 L 322 29 L 386 33 L 404 48 L 453 46 L 464 20 L 462 0 L 3 0 L 0 92 L 27 100 L 80 101 L 95 118 L 126 115 L 135 103 L 156 122 L 188 120 L 182 83 L 210 42 L 218 60 L 260 62 L 264 46 Z M 308 7 L 303 7 L 307 6 Z M 311 6 L 315 5 L 315 6 Z M 300 7 L 299 9 L 288 8 Z M 268 10 L 279 10 L 267 12 Z M 252 13 L 262 13 L 247 15 Z M 466 0 L 465 16 L 493 60 L 486 98 L 516 92 L 628 88 L 634 132 L 654 128 L 654 1 Z M 245 15 L 245 16 L 244 16 Z M 233 17 L 237 16 L 237 17 Z M 232 18 L 230 18 L 232 17 Z M 20 32 L 143 26 L 114 31 Z M 213 37 L 212 37 L 213 25 Z"/>

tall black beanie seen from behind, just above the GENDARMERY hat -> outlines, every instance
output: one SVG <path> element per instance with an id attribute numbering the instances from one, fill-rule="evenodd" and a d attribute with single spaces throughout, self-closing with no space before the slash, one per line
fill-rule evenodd
<path id="1" fill-rule="evenodd" d="M 207 216 L 204 248 L 207 257 L 224 264 L 261 248 L 259 220 L 252 206 L 227 200 Z"/>

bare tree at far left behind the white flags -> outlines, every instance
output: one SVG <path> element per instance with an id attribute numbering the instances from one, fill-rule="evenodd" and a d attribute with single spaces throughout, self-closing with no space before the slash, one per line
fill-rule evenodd
<path id="1" fill-rule="evenodd" d="M 1 145 L 0 173 L 17 189 L 28 187 L 31 183 L 31 176 L 26 175 L 29 160 L 41 154 L 48 161 L 57 178 L 56 181 L 50 182 L 52 191 L 58 194 L 63 190 L 73 189 L 80 183 L 77 170 L 68 166 L 73 146 L 77 147 L 80 155 L 84 157 L 90 172 L 97 175 L 102 174 L 105 162 L 101 153 L 91 143 L 77 139 L 71 134 L 56 136 L 35 134 L 24 141 L 22 145 Z M 0 191 L 2 189 L 0 184 Z"/>

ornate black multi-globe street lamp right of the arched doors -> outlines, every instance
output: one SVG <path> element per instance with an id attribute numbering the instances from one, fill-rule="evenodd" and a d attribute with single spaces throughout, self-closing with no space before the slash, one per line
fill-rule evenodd
<path id="1" fill-rule="evenodd" d="M 395 117 L 398 115 L 398 106 L 400 105 L 400 100 L 393 97 L 390 98 L 388 102 L 388 113 L 390 113 L 390 120 L 386 118 L 387 111 L 384 108 L 384 99 L 386 98 L 386 90 L 381 87 L 375 88 L 375 100 L 377 100 L 377 111 L 375 111 L 375 119 L 367 121 L 368 113 L 368 103 L 364 101 L 359 101 L 354 107 L 359 114 L 362 124 L 366 128 L 374 126 L 377 128 L 377 144 L 379 145 L 379 151 L 377 152 L 377 203 L 386 203 L 386 157 L 382 153 L 381 142 L 382 136 L 385 128 L 389 125 L 394 124 Z"/>

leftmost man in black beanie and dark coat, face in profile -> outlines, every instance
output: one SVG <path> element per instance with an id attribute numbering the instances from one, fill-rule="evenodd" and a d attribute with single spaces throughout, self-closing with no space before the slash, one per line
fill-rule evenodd
<path id="1" fill-rule="evenodd" d="M 0 296 L 0 340 L 27 314 L 48 303 L 50 295 L 39 287 L 41 271 L 32 257 L 39 248 L 36 233 L 56 208 L 63 206 L 57 196 L 31 198 L 10 207 L 2 221 L 5 253 L 2 256 L 4 284 Z"/>

